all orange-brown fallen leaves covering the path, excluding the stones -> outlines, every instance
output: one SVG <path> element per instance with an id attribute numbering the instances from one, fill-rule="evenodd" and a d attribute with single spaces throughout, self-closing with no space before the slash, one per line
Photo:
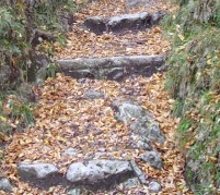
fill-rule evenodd
<path id="1" fill-rule="evenodd" d="M 159 2 L 161 4 L 157 3 L 158 5 L 153 7 L 154 10 L 175 10 L 162 0 Z M 94 1 L 88 7 L 78 14 L 79 19 L 83 20 L 88 15 L 102 15 L 103 13 L 109 16 L 125 12 L 124 1 L 105 0 L 99 3 Z M 138 9 L 140 11 L 143 8 L 127 9 L 125 13 L 135 13 Z M 55 47 L 57 59 L 153 54 L 164 53 L 170 49 L 169 41 L 162 37 L 158 26 L 137 34 L 95 36 L 76 25 L 68 34 L 67 46 L 60 47 L 56 44 Z M 162 192 L 159 194 L 192 194 L 183 175 L 184 155 L 175 143 L 178 119 L 171 114 L 173 99 L 164 89 L 164 82 L 165 75 L 161 73 L 150 78 L 132 75 L 121 83 L 89 78 L 74 80 L 62 74 L 57 74 L 56 78 L 48 78 L 38 88 L 38 101 L 34 110 L 36 125 L 12 135 L 1 161 L 1 175 L 8 176 L 15 186 L 11 194 L 67 194 L 62 186 L 39 190 L 21 182 L 16 172 L 16 164 L 21 161 L 55 163 L 65 173 L 70 163 L 83 161 L 85 158 L 92 159 L 95 153 L 103 151 L 106 154 L 101 157 L 103 159 L 135 160 L 149 179 L 161 183 Z M 90 89 L 102 92 L 104 98 L 88 99 L 86 92 Z M 161 153 L 164 161 L 162 170 L 155 170 L 142 162 L 140 154 L 143 150 L 130 147 L 130 131 L 128 126 L 115 120 L 111 107 L 112 102 L 118 99 L 138 101 L 160 123 L 166 142 L 163 146 L 154 144 L 153 147 Z M 73 157 L 63 156 L 63 151 L 70 147 L 77 148 L 79 153 Z M 149 191 L 146 186 L 140 186 L 95 194 L 115 193 L 149 194 Z M 1 192 L 1 194 L 4 193 Z"/>

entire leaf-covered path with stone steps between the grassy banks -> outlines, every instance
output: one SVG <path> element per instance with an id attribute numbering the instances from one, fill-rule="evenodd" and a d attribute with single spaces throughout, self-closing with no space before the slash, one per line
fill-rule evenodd
<path id="1" fill-rule="evenodd" d="M 164 89 L 166 0 L 92 1 L 76 14 L 36 124 L 13 134 L 1 194 L 190 194 Z M 8 180 L 4 180 L 7 183 Z"/>

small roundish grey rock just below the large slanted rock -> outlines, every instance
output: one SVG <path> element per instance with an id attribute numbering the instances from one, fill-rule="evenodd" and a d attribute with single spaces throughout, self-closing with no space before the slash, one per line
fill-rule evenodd
<path id="1" fill-rule="evenodd" d="M 161 158 L 159 157 L 159 154 L 155 151 L 146 151 L 144 154 L 140 156 L 140 158 L 144 162 L 149 163 L 152 168 L 161 169 L 163 166 L 163 162 Z"/>

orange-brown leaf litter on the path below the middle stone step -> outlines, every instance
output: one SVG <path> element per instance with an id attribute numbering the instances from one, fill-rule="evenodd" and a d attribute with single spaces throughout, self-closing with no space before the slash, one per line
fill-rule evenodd
<path id="1" fill-rule="evenodd" d="M 4 154 L 1 167 L 4 168 L 3 175 L 16 185 L 13 193 L 55 194 L 58 191 L 56 187 L 51 187 L 50 192 L 40 191 L 20 182 L 18 162 L 53 162 L 65 173 L 71 162 L 83 161 L 84 158 L 93 158 L 95 153 L 105 151 L 108 155 L 103 156 L 104 159 L 135 160 L 148 178 L 162 184 L 162 194 L 189 194 L 183 178 L 183 154 L 174 143 L 178 119 L 171 115 L 173 100 L 164 90 L 164 80 L 163 74 L 155 74 L 151 78 L 131 76 L 121 83 L 89 78 L 77 81 L 61 74 L 48 78 L 42 87 L 35 109 L 36 125 L 14 133 Z M 89 89 L 104 93 L 104 98 L 88 99 Z M 139 158 L 142 150 L 129 146 L 129 129 L 115 120 L 111 108 L 116 99 L 138 101 L 160 123 L 166 143 L 153 147 L 162 154 L 162 170 L 154 170 L 142 162 Z M 78 148 L 79 153 L 74 157 L 63 156 L 62 153 L 70 147 Z M 59 188 L 61 193 L 63 188 Z M 124 194 L 138 192 L 147 190 L 142 186 Z"/>

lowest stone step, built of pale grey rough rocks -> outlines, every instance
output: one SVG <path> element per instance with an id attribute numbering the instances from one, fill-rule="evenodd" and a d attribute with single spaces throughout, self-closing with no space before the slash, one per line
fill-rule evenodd
<path id="1" fill-rule="evenodd" d="M 18 166 L 18 172 L 22 181 L 39 188 L 62 185 L 72 190 L 76 187 L 91 191 L 109 190 L 134 178 L 141 184 L 147 184 L 143 172 L 135 161 L 130 160 L 92 159 L 73 162 L 66 174 L 60 173 L 53 163 L 22 162 Z M 12 188 L 8 180 L 3 179 L 0 182 L 0 188 L 4 191 Z"/>

